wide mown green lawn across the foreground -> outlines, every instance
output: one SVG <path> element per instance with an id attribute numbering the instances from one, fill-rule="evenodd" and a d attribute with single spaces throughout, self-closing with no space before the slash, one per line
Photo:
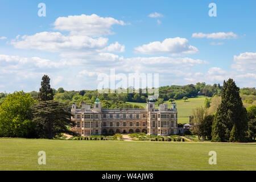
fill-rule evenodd
<path id="1" fill-rule="evenodd" d="M 254 144 L 0 138 L 0 146 L 0 170 L 256 170 Z"/>

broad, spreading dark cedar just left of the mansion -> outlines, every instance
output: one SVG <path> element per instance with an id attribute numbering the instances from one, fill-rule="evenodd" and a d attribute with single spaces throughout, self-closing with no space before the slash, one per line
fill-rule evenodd
<path id="1" fill-rule="evenodd" d="M 32 105 L 31 111 L 39 138 L 52 139 L 61 133 L 76 135 L 69 130 L 69 127 L 75 126 L 75 122 L 71 121 L 68 105 L 57 101 L 43 101 Z"/>

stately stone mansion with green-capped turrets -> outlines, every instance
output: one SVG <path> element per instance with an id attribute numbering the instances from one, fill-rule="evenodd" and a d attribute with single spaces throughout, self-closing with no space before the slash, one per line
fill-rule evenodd
<path id="1" fill-rule="evenodd" d="M 90 108 L 82 104 L 82 109 L 72 105 L 72 121 L 76 126 L 72 129 L 82 136 L 114 133 L 146 133 L 148 135 L 177 134 L 177 108 L 172 103 L 159 105 L 155 109 L 152 100 L 147 102 L 146 109 L 102 109 L 98 99 Z"/>

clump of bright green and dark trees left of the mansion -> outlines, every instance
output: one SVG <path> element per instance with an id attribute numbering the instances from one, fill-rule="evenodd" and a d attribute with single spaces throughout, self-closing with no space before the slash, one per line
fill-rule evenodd
<path id="1" fill-rule="evenodd" d="M 53 100 L 49 77 L 44 75 L 36 100 L 30 93 L 8 94 L 0 105 L 0 137 L 48 138 L 68 133 L 76 135 L 70 128 L 69 106 Z"/>

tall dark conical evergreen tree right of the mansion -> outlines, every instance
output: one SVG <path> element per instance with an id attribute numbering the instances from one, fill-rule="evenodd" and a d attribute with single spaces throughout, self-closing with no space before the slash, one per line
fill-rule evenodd
<path id="1" fill-rule="evenodd" d="M 246 141 L 247 114 L 239 90 L 233 79 L 224 81 L 221 104 L 218 106 L 212 126 L 212 142 Z"/>

